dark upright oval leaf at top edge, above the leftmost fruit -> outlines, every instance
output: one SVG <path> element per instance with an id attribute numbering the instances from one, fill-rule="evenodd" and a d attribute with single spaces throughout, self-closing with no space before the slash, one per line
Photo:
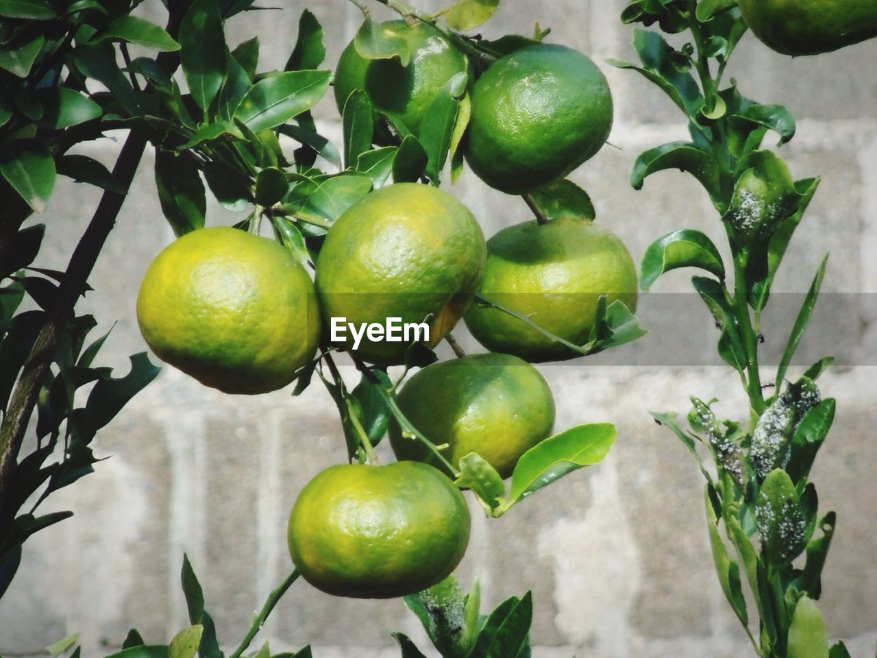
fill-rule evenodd
<path id="1" fill-rule="evenodd" d="M 180 61 L 189 92 L 207 110 L 228 70 L 225 32 L 215 0 L 194 0 L 180 24 Z"/>

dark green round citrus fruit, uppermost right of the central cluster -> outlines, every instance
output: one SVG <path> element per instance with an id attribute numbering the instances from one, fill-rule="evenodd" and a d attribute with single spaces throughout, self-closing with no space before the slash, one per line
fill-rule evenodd
<path id="1" fill-rule="evenodd" d="M 609 83 L 593 61 L 566 46 L 526 46 L 475 82 L 466 157 L 491 187 L 522 194 L 588 160 L 611 127 Z"/>

